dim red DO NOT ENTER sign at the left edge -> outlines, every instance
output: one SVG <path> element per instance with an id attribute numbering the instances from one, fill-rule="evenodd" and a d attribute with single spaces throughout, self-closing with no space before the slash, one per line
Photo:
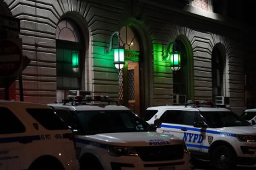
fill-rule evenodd
<path id="1" fill-rule="evenodd" d="M 13 77 L 22 71 L 20 42 L 0 40 L 0 77 Z"/>

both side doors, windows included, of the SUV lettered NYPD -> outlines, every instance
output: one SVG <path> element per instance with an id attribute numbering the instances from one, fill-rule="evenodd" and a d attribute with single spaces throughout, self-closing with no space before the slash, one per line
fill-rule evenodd
<path id="1" fill-rule="evenodd" d="M 190 110 L 167 110 L 161 117 L 163 133 L 173 134 L 183 139 L 189 151 L 200 151 L 203 134 L 200 128 L 193 127 L 199 114 Z"/>

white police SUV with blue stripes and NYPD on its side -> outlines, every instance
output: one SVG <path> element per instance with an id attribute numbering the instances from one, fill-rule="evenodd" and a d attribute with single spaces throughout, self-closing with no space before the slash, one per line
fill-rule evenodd
<path id="1" fill-rule="evenodd" d="M 211 160 L 215 169 L 256 164 L 256 127 L 227 108 L 156 106 L 145 119 L 157 132 L 185 140 L 192 158 Z"/>

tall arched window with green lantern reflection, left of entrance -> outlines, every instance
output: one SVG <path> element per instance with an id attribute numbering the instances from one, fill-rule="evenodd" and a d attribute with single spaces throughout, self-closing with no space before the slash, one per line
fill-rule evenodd
<path id="1" fill-rule="evenodd" d="M 82 88 L 82 48 L 80 33 L 71 20 L 59 22 L 56 30 L 57 101 L 69 91 Z"/>

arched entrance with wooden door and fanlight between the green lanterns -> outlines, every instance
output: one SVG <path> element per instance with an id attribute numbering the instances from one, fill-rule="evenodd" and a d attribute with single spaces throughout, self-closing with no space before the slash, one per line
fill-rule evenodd
<path id="1" fill-rule="evenodd" d="M 123 105 L 140 114 L 139 40 L 128 27 L 121 29 L 119 38 L 120 46 L 125 48 L 125 67 L 121 70 L 123 81 L 119 99 Z"/>

